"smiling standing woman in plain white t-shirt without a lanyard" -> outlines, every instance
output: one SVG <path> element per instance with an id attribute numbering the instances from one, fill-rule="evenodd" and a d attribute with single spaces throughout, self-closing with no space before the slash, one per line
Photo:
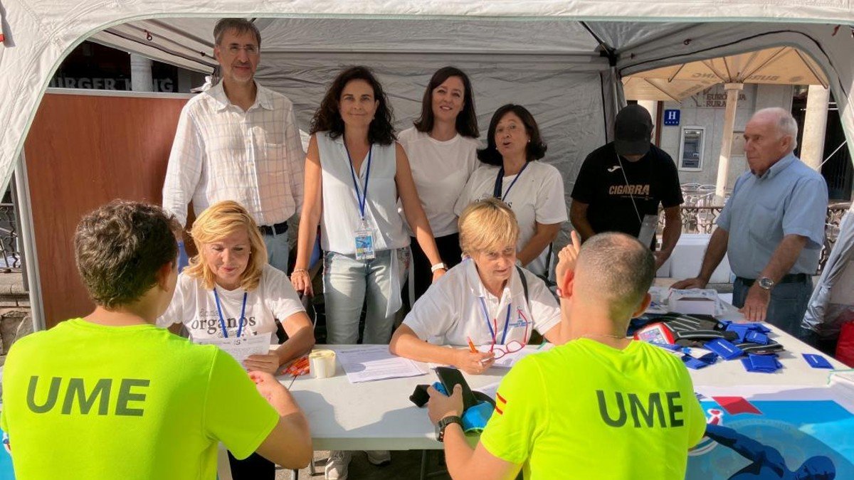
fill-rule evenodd
<path id="1" fill-rule="evenodd" d="M 421 115 L 412 124 L 412 128 L 401 132 L 398 141 L 407 150 L 412 179 L 436 237 L 436 248 L 450 268 L 459 263 L 462 254 L 453 205 L 477 169 L 480 133 L 468 76 L 456 67 L 442 67 L 433 73 L 424 91 Z M 412 231 L 409 233 L 412 236 Z M 410 244 L 418 299 L 430 287 L 432 276 L 427 272 L 432 265 L 415 238 Z"/>

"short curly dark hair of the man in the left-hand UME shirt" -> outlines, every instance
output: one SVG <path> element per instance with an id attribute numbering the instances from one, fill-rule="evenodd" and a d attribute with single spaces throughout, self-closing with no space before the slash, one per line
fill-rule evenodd
<path id="1" fill-rule="evenodd" d="M 160 207 L 114 200 L 86 214 L 74 232 L 74 259 L 92 301 L 130 305 L 178 256 L 178 222 Z"/>

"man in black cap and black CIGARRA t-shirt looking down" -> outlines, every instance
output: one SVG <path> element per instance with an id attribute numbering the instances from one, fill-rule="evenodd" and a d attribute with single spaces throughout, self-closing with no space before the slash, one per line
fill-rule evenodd
<path id="1" fill-rule="evenodd" d="M 683 202 L 676 163 L 650 143 L 652 118 L 646 108 L 629 105 L 614 121 L 614 141 L 584 160 L 572 189 L 570 220 L 582 240 L 603 231 L 639 237 L 655 250 L 658 204 L 664 206 L 661 249 L 656 268 L 670 257 L 681 233 Z"/>

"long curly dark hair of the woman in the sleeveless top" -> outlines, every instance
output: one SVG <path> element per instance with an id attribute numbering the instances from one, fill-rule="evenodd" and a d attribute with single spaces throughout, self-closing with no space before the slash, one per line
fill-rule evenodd
<path id="1" fill-rule="evenodd" d="M 377 112 L 368 127 L 368 142 L 390 145 L 395 142 L 395 127 L 392 126 L 392 108 L 389 97 L 385 96 L 383 85 L 380 85 L 368 67 L 348 67 L 332 80 L 326 95 L 320 102 L 312 117 L 310 134 L 329 132 L 330 138 L 338 138 L 344 134 L 344 120 L 338 110 L 341 93 L 344 87 L 353 80 L 365 80 L 374 91 L 374 100 L 379 101 Z"/>

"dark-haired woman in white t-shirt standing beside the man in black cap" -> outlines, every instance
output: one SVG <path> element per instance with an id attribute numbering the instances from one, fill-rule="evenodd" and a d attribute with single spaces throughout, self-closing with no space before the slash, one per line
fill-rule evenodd
<path id="1" fill-rule="evenodd" d="M 536 275 L 547 276 L 549 246 L 567 220 L 564 179 L 557 168 L 539 161 L 546 155 L 534 116 L 508 103 L 489 122 L 487 147 L 477 150 L 486 165 L 471 174 L 454 212 L 494 196 L 512 208 L 519 222 L 517 258 Z"/>

